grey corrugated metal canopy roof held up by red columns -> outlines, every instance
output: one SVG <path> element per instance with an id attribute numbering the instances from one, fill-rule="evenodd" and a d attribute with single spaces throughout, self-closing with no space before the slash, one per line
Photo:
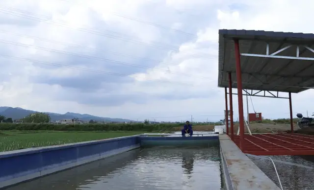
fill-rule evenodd
<path id="1" fill-rule="evenodd" d="M 314 87 L 314 34 L 219 30 L 218 87 L 236 88 L 235 45 L 239 40 L 242 88 L 299 93 Z"/>

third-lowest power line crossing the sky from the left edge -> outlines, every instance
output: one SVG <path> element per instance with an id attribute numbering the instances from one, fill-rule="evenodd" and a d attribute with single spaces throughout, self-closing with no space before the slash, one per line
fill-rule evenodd
<path id="1" fill-rule="evenodd" d="M 71 47 L 76 47 L 76 48 L 84 48 L 84 49 L 89 49 L 89 50 L 98 51 L 98 52 L 102 52 L 102 53 L 108 53 L 108 54 L 119 55 L 119 56 L 123 56 L 123 57 L 129 57 L 129 58 L 132 58 L 132 59 L 148 60 L 148 61 L 156 62 L 156 63 L 158 63 L 160 65 L 175 66 L 175 67 L 179 66 L 179 65 L 176 65 L 176 64 L 162 63 L 161 60 L 155 60 L 155 59 L 150 59 L 150 58 L 145 58 L 145 57 L 135 57 L 135 56 L 127 55 L 127 54 L 123 54 L 123 53 L 107 51 L 107 50 L 98 49 L 98 48 L 89 48 L 89 47 L 81 46 L 81 45 L 77 45 L 77 44 L 64 43 L 64 42 L 60 42 L 60 41 L 50 40 L 50 39 L 47 39 L 47 38 L 40 38 L 40 37 L 37 37 L 37 36 L 30 36 L 30 35 L 16 33 L 16 32 L 12 32 L 12 31 L 5 31 L 5 30 L 1 30 L 0 29 L 0 32 L 1 33 L 10 34 L 10 35 L 15 35 L 15 36 L 21 36 L 21 37 L 37 39 L 37 40 L 40 40 L 40 41 L 51 42 L 51 43 L 54 43 L 54 44 L 62 44 L 62 45 L 65 45 L 65 46 L 71 46 Z M 195 68 L 195 67 L 189 67 L 189 68 Z"/>

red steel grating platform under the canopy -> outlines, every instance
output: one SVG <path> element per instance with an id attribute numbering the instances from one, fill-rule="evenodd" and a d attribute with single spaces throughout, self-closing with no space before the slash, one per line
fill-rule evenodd
<path id="1" fill-rule="evenodd" d="M 240 136 L 234 135 L 240 147 Z M 243 153 L 253 155 L 314 155 L 314 136 L 297 133 L 244 135 Z"/>

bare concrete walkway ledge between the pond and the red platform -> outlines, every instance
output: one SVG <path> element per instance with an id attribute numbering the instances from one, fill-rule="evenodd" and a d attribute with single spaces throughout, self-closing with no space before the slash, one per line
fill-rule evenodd
<path id="1" fill-rule="evenodd" d="M 280 190 L 227 135 L 219 135 L 227 190 Z"/>

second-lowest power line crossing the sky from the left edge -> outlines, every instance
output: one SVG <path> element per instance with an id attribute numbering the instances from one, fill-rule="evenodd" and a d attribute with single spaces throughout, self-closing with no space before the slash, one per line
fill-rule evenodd
<path id="1" fill-rule="evenodd" d="M 137 68 L 143 68 L 143 69 L 151 69 L 151 70 L 155 70 L 155 71 L 164 71 L 164 72 L 169 72 L 169 73 L 173 73 L 173 74 L 180 74 L 180 75 L 191 76 L 191 77 L 196 77 L 196 78 L 210 79 L 209 77 L 204 77 L 204 76 L 194 76 L 194 75 L 187 74 L 187 73 L 173 72 L 173 71 L 168 71 L 168 70 L 145 67 L 145 66 L 141 66 L 141 65 L 133 65 L 130 63 L 126 63 L 126 62 L 114 61 L 114 60 L 110 60 L 110 59 L 105 59 L 105 58 L 100 58 L 100 57 L 95 57 L 95 56 L 89 56 L 89 55 L 82 55 L 82 54 L 78 54 L 78 53 L 61 51 L 61 50 L 56 50 L 56 49 L 51 49 L 51 48 L 36 47 L 36 46 L 31 46 L 31 45 L 27 45 L 27 44 L 12 42 L 12 41 L 0 40 L 0 43 L 10 44 L 10 45 L 15 45 L 15 46 L 21 46 L 21 47 L 27 47 L 27 48 L 35 48 L 35 49 L 40 49 L 40 50 L 45 50 L 45 51 L 50 51 L 50 52 L 55 52 L 55 53 L 61 53 L 61 54 L 67 54 L 67 55 L 82 57 L 82 58 L 87 58 L 87 59 L 94 59 L 94 60 L 104 61 L 104 62 L 118 64 L 118 65 L 125 65 L 125 66 L 137 67 Z"/>

